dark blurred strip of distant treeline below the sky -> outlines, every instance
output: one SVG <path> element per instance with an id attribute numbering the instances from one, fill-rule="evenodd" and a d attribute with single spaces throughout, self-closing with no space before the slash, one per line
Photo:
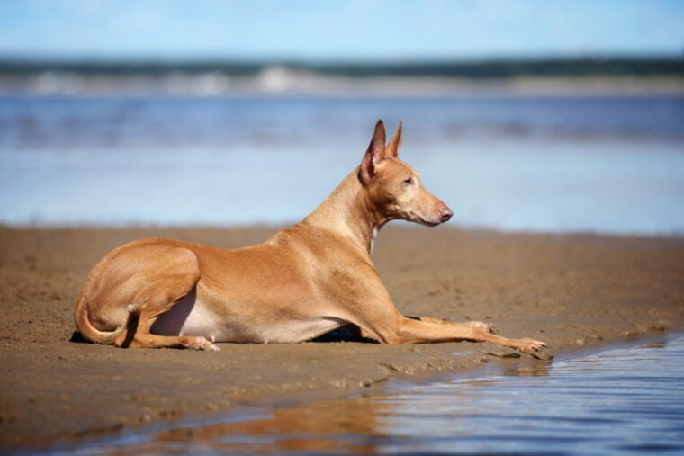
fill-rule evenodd
<path id="1" fill-rule="evenodd" d="M 273 68 L 298 74 L 347 78 L 442 77 L 512 78 L 518 76 L 676 76 L 684 77 L 684 56 L 583 56 L 554 58 L 424 59 L 313 62 L 305 60 L 221 59 L 38 59 L 0 54 L 0 76 L 36 76 L 46 72 L 80 76 L 162 76 L 172 74 L 251 77 Z"/>

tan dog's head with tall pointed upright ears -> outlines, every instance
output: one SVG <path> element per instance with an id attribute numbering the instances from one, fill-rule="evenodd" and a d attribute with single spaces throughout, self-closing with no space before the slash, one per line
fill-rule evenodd
<path id="1" fill-rule="evenodd" d="M 434 227 L 454 212 L 423 186 L 420 175 L 399 158 L 401 122 L 385 146 L 383 121 L 375 124 L 371 144 L 358 170 L 368 203 L 386 219 L 403 219 Z"/>

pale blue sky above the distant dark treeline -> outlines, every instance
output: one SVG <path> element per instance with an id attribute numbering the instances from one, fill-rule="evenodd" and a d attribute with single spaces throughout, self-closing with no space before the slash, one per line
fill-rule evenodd
<path id="1" fill-rule="evenodd" d="M 680 0 L 8 0 L 0 54 L 404 59 L 684 53 Z"/>

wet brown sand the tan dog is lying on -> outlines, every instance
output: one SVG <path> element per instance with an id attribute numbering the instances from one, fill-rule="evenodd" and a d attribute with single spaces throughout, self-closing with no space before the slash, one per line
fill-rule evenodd
<path id="1" fill-rule="evenodd" d="M 86 273 L 140 237 L 256 244 L 274 228 L 0 228 L 0 448 L 92 439 L 255 405 L 339 398 L 388 380 L 464 375 L 684 326 L 684 238 L 384 228 L 375 264 L 407 315 L 483 320 L 545 340 L 494 344 L 220 344 L 218 353 L 124 350 L 74 336 Z M 369 304 L 370 305 L 370 304 Z M 341 341 L 339 339 L 342 339 Z"/>

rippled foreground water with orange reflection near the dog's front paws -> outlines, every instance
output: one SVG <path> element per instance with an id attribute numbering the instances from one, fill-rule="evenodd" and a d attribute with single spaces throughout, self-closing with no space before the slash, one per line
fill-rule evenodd
<path id="1" fill-rule="evenodd" d="M 109 442 L 80 454 L 682 454 L 684 336 Z M 58 452 L 53 452 L 58 454 Z"/>

